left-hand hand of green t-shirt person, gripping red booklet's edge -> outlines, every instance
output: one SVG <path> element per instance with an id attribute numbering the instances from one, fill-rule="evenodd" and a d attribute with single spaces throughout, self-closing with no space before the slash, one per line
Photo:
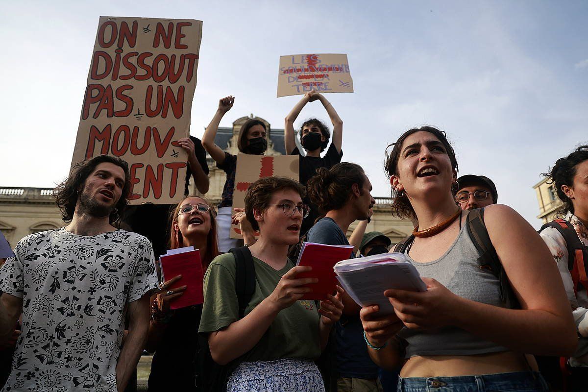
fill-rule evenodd
<path id="1" fill-rule="evenodd" d="M 278 282 L 278 286 L 269 294 L 268 300 L 276 309 L 286 309 L 296 301 L 302 298 L 304 294 L 312 292 L 310 287 L 303 287 L 305 284 L 318 283 L 316 277 L 303 277 L 296 279 L 296 276 L 302 272 L 309 272 L 311 266 L 292 267 L 286 272 Z"/>

